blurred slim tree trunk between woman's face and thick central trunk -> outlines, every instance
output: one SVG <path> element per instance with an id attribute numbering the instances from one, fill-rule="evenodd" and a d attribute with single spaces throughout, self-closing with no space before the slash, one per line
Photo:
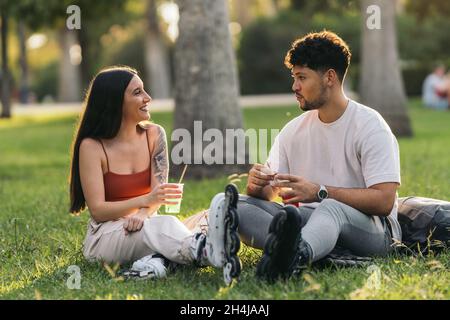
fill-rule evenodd
<path id="1" fill-rule="evenodd" d="M 171 96 L 170 67 L 167 48 L 159 30 L 155 2 L 147 0 L 145 64 L 150 95 L 156 99 L 166 99 Z"/>

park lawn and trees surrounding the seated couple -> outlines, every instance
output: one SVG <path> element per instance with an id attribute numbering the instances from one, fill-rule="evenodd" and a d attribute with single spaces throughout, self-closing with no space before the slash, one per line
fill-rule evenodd
<path id="1" fill-rule="evenodd" d="M 381 29 L 367 27 L 372 4 L 381 9 Z M 79 30 L 67 28 L 70 5 L 81 9 Z M 2 0 L 0 10 L 0 298 L 450 298 L 448 251 L 379 259 L 376 272 L 313 268 L 269 285 L 254 278 L 261 252 L 243 246 L 241 281 L 230 288 L 211 268 L 123 282 L 117 266 L 84 261 L 88 214 L 68 214 L 67 184 L 81 101 L 100 68 L 140 71 L 155 99 L 152 119 L 168 137 L 191 130 L 193 120 L 204 129 L 280 129 L 300 113 L 284 54 L 296 37 L 329 29 L 353 54 L 347 93 L 377 109 L 399 139 L 399 195 L 449 200 L 450 113 L 420 100 L 436 62 L 450 66 L 448 1 Z M 207 208 L 229 174 L 244 169 L 190 167 L 180 218 Z M 243 192 L 245 176 L 234 182 Z M 79 290 L 67 286 L 71 265 L 81 269 Z"/>

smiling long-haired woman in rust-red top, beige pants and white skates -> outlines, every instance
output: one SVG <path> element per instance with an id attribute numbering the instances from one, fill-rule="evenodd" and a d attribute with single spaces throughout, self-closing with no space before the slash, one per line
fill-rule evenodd
<path id="1" fill-rule="evenodd" d="M 139 275 L 162 277 L 164 259 L 224 267 L 237 277 L 237 191 L 227 186 L 209 211 L 209 234 L 193 233 L 180 220 L 158 215 L 182 197 L 167 183 L 164 129 L 149 119 L 151 97 L 136 70 L 110 67 L 92 80 L 73 143 L 70 212 L 86 207 L 91 219 L 84 241 L 88 260 L 133 264 Z"/>

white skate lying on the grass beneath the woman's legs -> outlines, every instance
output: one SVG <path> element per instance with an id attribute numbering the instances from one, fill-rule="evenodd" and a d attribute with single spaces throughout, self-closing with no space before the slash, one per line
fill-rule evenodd
<path id="1" fill-rule="evenodd" d="M 133 263 L 131 269 L 121 275 L 126 279 L 157 279 L 167 275 L 169 261 L 160 254 L 145 256 Z"/>

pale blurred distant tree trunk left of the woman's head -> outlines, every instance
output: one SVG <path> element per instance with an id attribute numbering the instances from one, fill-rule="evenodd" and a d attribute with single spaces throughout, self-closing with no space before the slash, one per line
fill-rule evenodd
<path id="1" fill-rule="evenodd" d="M 59 31 L 59 43 L 61 60 L 58 100 L 60 102 L 81 101 L 81 72 L 80 61 L 77 57 L 81 48 L 78 45 L 76 32 L 64 27 Z"/>

